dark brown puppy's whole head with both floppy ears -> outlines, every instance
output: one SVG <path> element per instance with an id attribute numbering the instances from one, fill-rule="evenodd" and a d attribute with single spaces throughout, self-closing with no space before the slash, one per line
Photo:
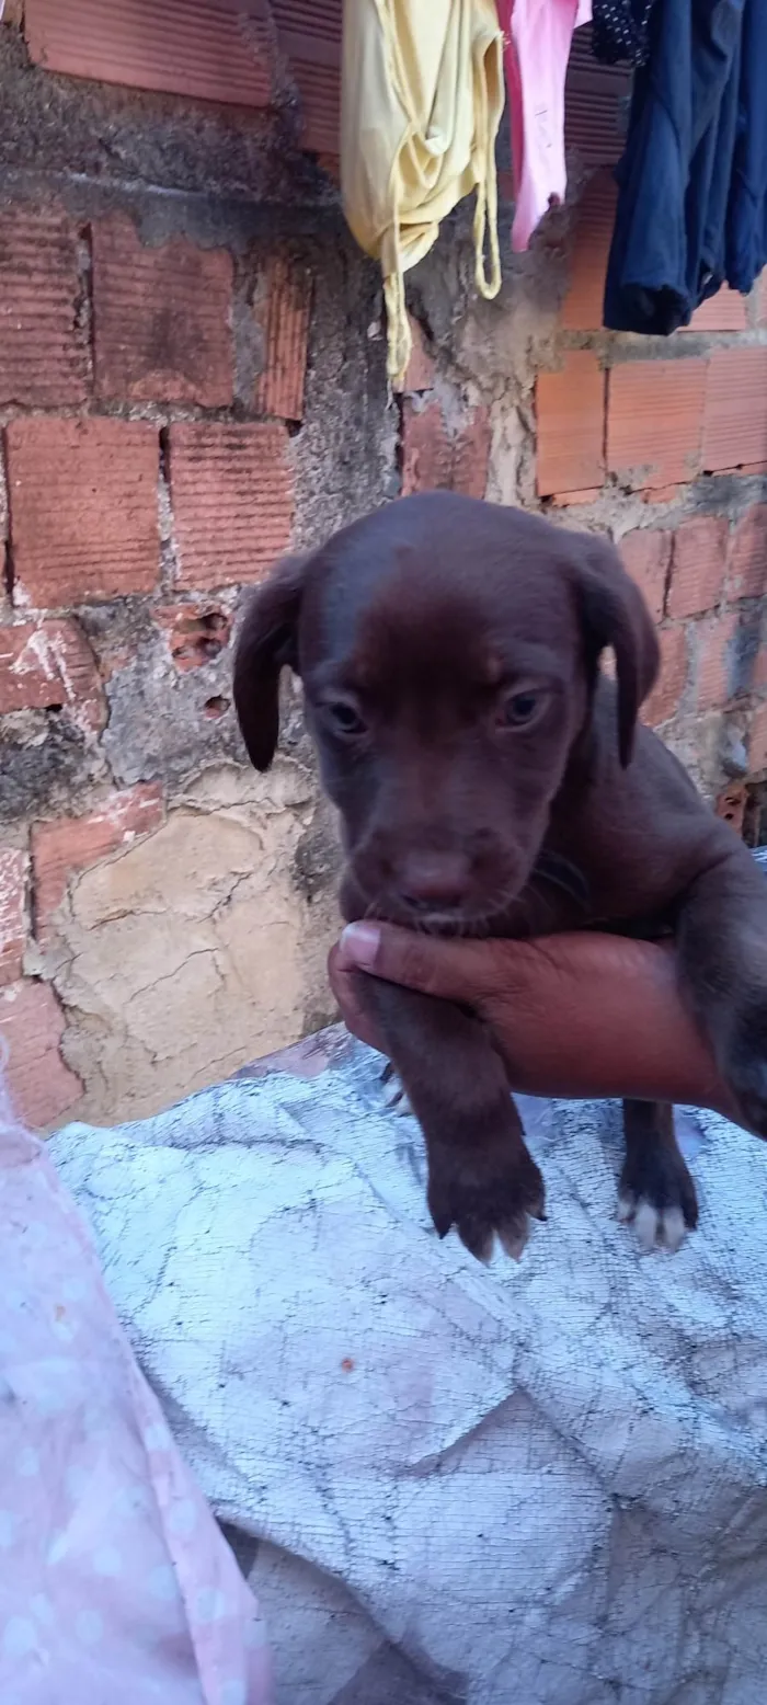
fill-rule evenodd
<path id="1" fill-rule="evenodd" d="M 615 551 L 435 493 L 276 568 L 240 629 L 235 706 L 268 769 L 280 672 L 300 673 L 361 905 L 470 928 L 491 924 L 530 875 L 605 646 L 626 766 L 658 644 Z"/>

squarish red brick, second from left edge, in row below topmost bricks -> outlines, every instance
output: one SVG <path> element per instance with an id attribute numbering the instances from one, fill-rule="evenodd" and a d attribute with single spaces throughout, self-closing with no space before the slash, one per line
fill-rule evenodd
<path id="1" fill-rule="evenodd" d="M 94 225 L 92 244 L 97 396 L 227 407 L 232 257 L 181 237 L 147 247 L 119 217 Z"/>

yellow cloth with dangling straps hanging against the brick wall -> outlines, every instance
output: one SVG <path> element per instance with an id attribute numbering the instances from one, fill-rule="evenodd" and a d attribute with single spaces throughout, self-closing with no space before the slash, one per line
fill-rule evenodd
<path id="1" fill-rule="evenodd" d="M 472 189 L 477 290 L 501 286 L 501 49 L 494 0 L 344 0 L 341 193 L 360 247 L 382 264 L 395 389 L 411 355 L 402 275 Z"/>

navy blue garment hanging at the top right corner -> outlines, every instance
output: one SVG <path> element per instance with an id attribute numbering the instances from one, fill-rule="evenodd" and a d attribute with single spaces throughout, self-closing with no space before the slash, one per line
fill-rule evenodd
<path id="1" fill-rule="evenodd" d="M 767 0 L 658 0 L 634 78 L 605 285 L 612 331 L 668 336 L 765 261 Z"/>

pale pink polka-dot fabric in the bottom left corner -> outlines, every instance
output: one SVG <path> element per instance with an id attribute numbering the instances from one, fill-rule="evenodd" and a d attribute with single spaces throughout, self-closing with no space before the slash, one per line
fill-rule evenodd
<path id="1" fill-rule="evenodd" d="M 0 1298 L 2 1705 L 268 1705 L 256 1599 L 2 1072 Z"/>

